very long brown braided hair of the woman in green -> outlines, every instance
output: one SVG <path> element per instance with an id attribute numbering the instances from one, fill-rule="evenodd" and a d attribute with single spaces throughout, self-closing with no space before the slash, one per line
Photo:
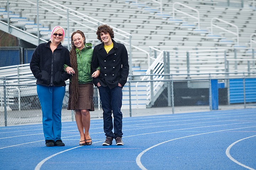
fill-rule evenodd
<path id="1" fill-rule="evenodd" d="M 78 68 L 77 68 L 77 58 L 76 58 L 76 46 L 73 42 L 73 36 L 75 34 L 80 34 L 82 38 L 84 38 L 84 44 L 85 44 L 85 35 L 82 31 L 77 30 L 71 35 L 71 50 L 70 50 L 70 64 L 71 67 L 74 68 L 75 73 L 74 76 L 71 78 L 71 91 L 73 95 L 73 100 L 71 100 L 71 103 L 74 103 L 74 108 L 77 106 L 78 101 Z"/>

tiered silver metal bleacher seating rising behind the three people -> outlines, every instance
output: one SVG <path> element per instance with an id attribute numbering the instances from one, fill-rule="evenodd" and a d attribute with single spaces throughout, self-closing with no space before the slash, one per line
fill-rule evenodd
<path id="1" fill-rule="evenodd" d="M 36 1 L 10 0 L 9 2 L 10 24 L 37 35 Z M 252 7 L 250 0 L 244 1 L 244 7 L 219 6 L 220 2 L 214 0 L 178 1 L 198 10 L 199 22 L 188 16 L 197 17 L 197 13 L 182 5 L 177 4 L 175 8 L 183 13 L 175 12 L 173 15 L 173 4 L 176 2 L 173 0 L 162 0 L 161 8 L 158 3 L 150 0 L 138 0 L 138 3 L 135 3 L 135 0 L 55 0 L 54 2 L 58 4 L 54 4 L 50 0 L 39 1 L 41 38 L 49 40 L 51 28 L 60 25 L 66 30 L 69 29 L 69 34 L 78 29 L 82 30 L 85 32 L 86 42 L 92 42 L 93 45 L 96 45 L 100 42 L 96 39 L 95 30 L 98 24 L 106 23 L 114 28 L 115 39 L 125 42 L 128 52 L 131 51 L 129 55 L 132 56 L 132 66 L 130 67 L 133 74 L 142 75 L 140 78 L 150 73 L 150 69 L 153 67 L 149 66 L 154 62 L 152 58 L 156 58 L 160 53 L 150 47 L 155 47 L 160 51 L 166 49 L 187 51 L 224 49 L 226 50 L 229 71 L 247 72 L 248 70 L 253 71 L 255 68 L 254 56 L 256 53 L 255 50 L 253 53 L 250 48 L 250 35 L 256 33 L 256 10 Z M 1 0 L 0 20 L 3 22 L 7 22 L 6 7 L 6 1 Z M 67 8 L 70 9 L 69 26 L 66 18 Z M 184 15 L 184 12 L 188 15 Z M 211 32 L 211 19 L 213 17 L 235 24 L 239 28 L 239 43 L 238 38 L 230 32 L 215 27 Z M 219 21 L 215 21 L 214 24 L 236 32 L 236 29 L 229 24 Z M 129 39 L 117 33 L 126 36 L 131 35 L 131 49 L 129 49 Z M 70 41 L 68 36 L 65 37 L 65 46 L 68 46 L 68 40 Z M 148 53 L 143 50 L 150 53 L 150 58 Z M 202 58 L 207 57 L 202 56 Z M 222 59 L 219 62 L 218 57 L 207 58 L 207 61 L 198 64 L 198 60 L 201 59 L 197 58 L 194 61 L 195 66 L 190 68 L 190 73 L 225 72 L 224 58 Z M 179 57 L 179 61 L 173 61 L 171 64 L 170 71 L 172 73 L 188 73 L 188 63 L 186 60 L 182 60 L 182 55 Z"/>

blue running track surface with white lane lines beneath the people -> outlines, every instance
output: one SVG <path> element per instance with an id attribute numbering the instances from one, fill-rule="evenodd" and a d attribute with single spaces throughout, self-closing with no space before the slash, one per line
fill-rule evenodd
<path id="1" fill-rule="evenodd" d="M 0 127 L 2 170 L 256 169 L 256 109 L 123 118 L 124 146 L 102 146 L 92 119 L 91 146 L 75 122 L 62 123 L 65 147 L 46 147 L 42 124 Z M 115 142 L 113 141 L 113 144 Z"/>

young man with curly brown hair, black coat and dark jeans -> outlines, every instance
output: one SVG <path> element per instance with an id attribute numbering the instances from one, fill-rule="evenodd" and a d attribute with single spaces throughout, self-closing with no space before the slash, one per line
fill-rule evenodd
<path id="1" fill-rule="evenodd" d="M 94 78 L 103 109 L 103 129 L 106 141 L 102 145 L 112 145 L 113 139 L 116 145 L 123 145 L 122 141 L 122 88 L 127 82 L 129 74 L 128 53 L 126 47 L 113 40 L 113 29 L 107 25 L 99 26 L 97 39 L 102 43 L 94 47 L 91 72 L 95 72 L 100 66 L 100 75 Z M 94 77 L 92 75 L 92 77 Z M 114 123 L 112 121 L 112 113 Z M 114 128 L 114 133 L 112 132 Z"/>

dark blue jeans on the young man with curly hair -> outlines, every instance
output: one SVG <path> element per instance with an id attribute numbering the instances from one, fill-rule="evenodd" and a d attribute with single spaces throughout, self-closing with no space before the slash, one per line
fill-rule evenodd
<path id="1" fill-rule="evenodd" d="M 123 114 L 121 112 L 123 92 L 122 87 L 116 86 L 110 89 L 108 86 L 98 87 L 102 109 L 103 109 L 103 129 L 106 136 L 116 138 L 122 137 Z M 114 126 L 112 120 L 112 112 L 114 117 Z M 112 132 L 114 127 L 114 133 Z"/>

